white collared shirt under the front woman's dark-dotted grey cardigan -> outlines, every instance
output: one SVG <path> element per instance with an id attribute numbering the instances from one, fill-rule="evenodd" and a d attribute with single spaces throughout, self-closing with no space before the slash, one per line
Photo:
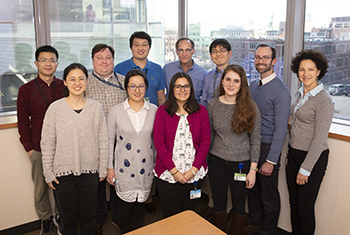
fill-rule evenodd
<path id="1" fill-rule="evenodd" d="M 124 101 L 124 110 L 128 113 L 128 116 L 137 134 L 140 133 L 143 124 L 145 123 L 147 111 L 150 109 L 149 103 L 145 99 L 143 99 L 143 101 L 143 107 L 138 112 L 135 112 L 131 109 L 129 105 L 129 98 Z"/>

